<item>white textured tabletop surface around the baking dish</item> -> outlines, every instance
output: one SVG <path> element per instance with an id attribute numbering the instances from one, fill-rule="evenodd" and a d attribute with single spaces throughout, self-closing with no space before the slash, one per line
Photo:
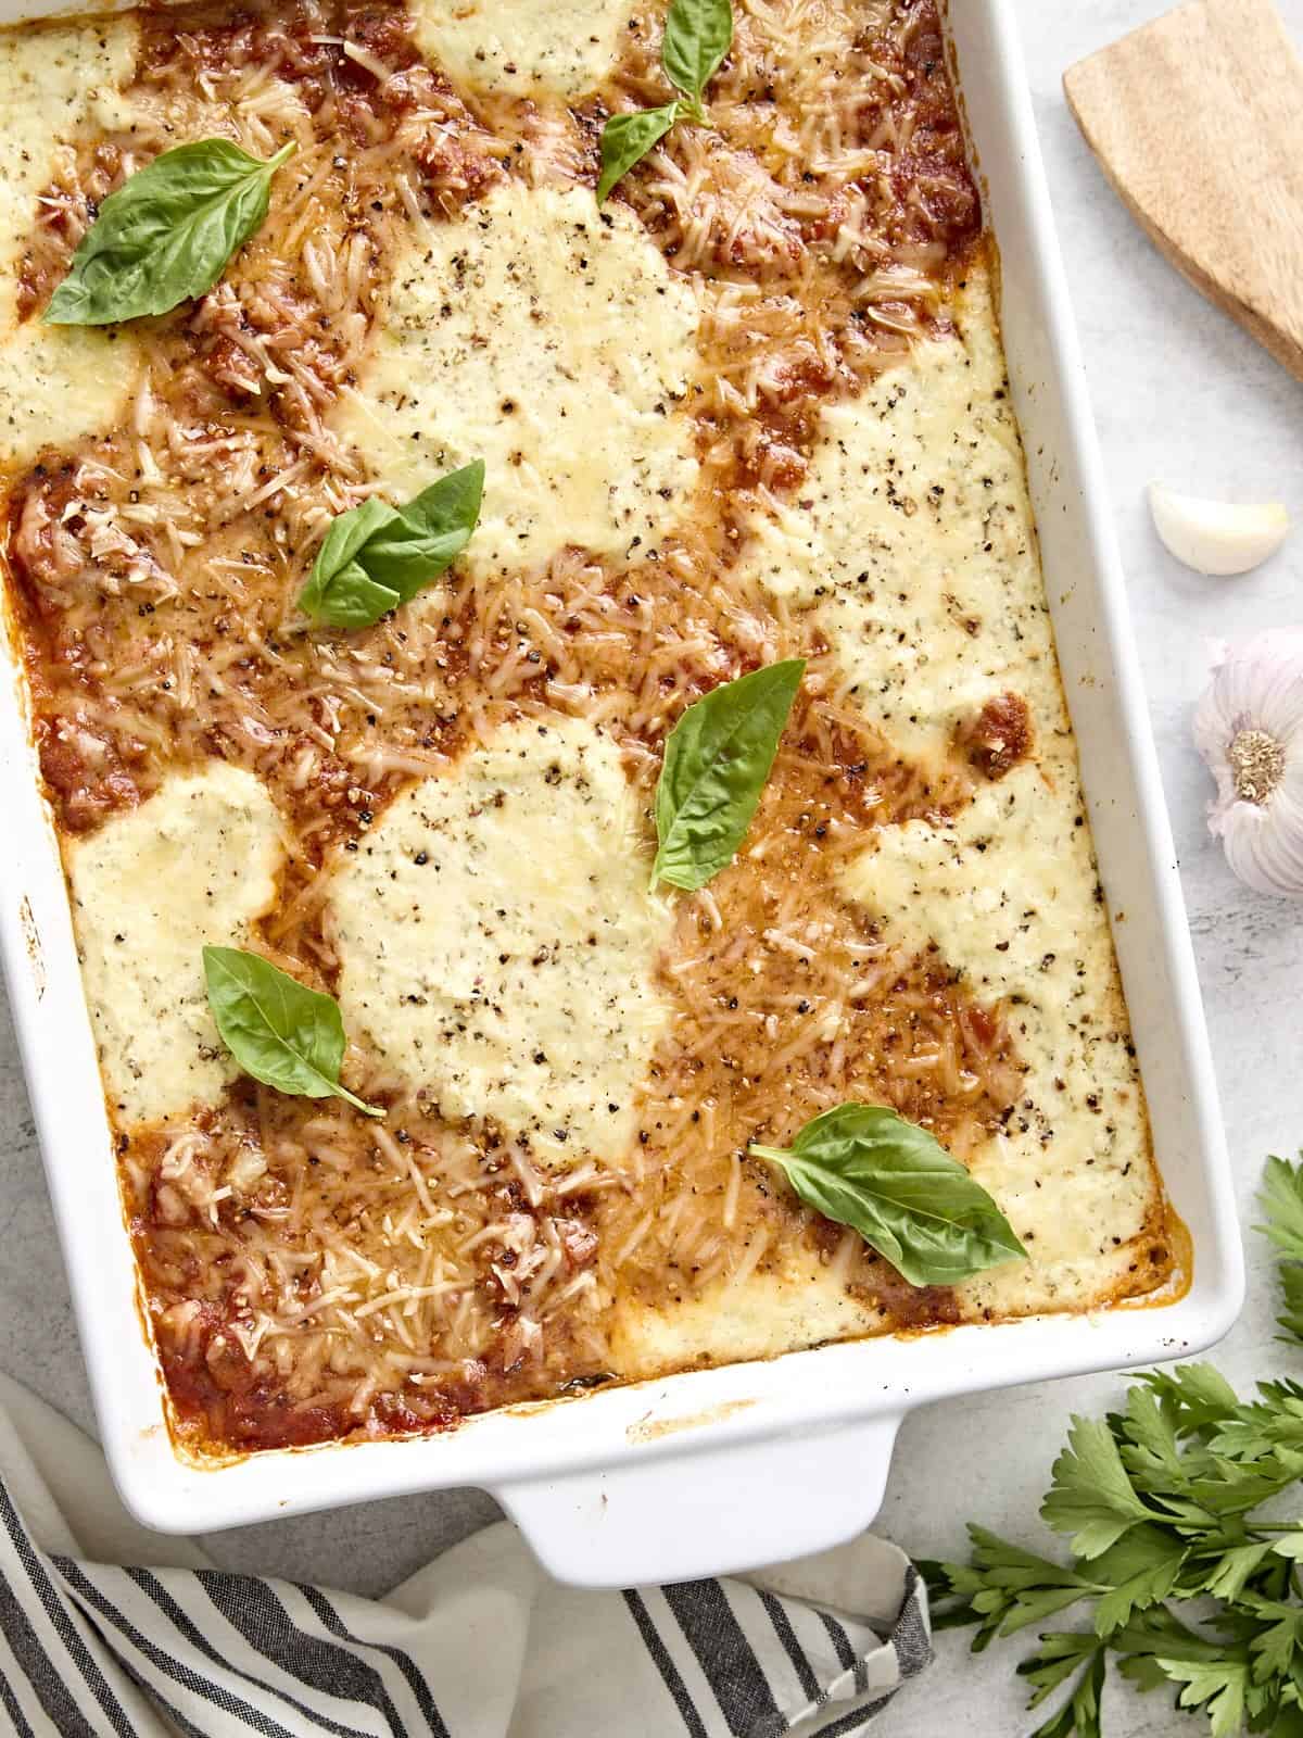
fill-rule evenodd
<path id="1" fill-rule="evenodd" d="M 1204 833 L 1207 780 L 1190 747 L 1190 711 L 1204 683 L 1209 638 L 1303 624 L 1303 530 L 1247 579 L 1200 580 L 1159 546 L 1143 485 L 1162 476 L 1209 495 L 1284 499 L 1303 520 L 1303 388 L 1159 259 L 1105 188 L 1065 108 L 1063 70 L 1155 17 L 1162 5 L 1013 3 L 1086 344 L 1230 1151 L 1251 1218 L 1263 1156 L 1303 1145 L 1303 909 L 1246 893 L 1223 867 Z M 1279 3 L 1303 43 L 1303 0 Z M 1244 1321 L 1218 1359 L 1240 1383 L 1286 1366 L 1303 1376 L 1303 1354 L 1272 1343 L 1270 1264 L 1253 1237 L 1249 1276 Z M 90 1427 L 68 1284 L 2 1006 L 0 1368 Z M 961 1552 L 969 1517 L 1035 1542 L 1035 1509 L 1068 1413 L 1101 1410 L 1119 1392 L 1121 1383 L 1103 1376 L 916 1415 L 900 1437 L 881 1531 L 929 1556 Z M 413 1496 L 219 1535 L 208 1545 L 229 1568 L 379 1592 L 492 1514 L 493 1505 L 474 1493 Z M 957 1731 L 1020 1738 L 1035 1721 L 1023 1714 L 1022 1686 L 1013 1679 L 1018 1656 L 1015 1642 L 969 1660 L 962 1637 L 942 1637 L 936 1668 L 874 1731 L 883 1738 Z M 1169 1698 L 1129 1696 L 1117 1688 L 1108 1695 L 1108 1738 L 1195 1738 L 1202 1729 L 1174 1714 Z"/>

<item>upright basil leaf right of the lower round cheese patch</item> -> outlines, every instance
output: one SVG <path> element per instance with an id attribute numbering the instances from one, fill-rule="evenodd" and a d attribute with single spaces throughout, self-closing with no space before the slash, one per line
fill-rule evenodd
<path id="1" fill-rule="evenodd" d="M 766 664 L 690 706 L 665 742 L 653 885 L 693 893 L 726 869 L 756 817 L 804 659 Z"/>

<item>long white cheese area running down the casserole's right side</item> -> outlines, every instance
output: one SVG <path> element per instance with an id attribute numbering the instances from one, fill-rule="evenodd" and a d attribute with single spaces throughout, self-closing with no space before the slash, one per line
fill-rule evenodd
<path id="1" fill-rule="evenodd" d="M 1035 760 L 983 784 L 949 827 L 881 829 L 846 888 L 895 945 L 935 945 L 980 1001 L 1016 1001 L 1027 1090 L 968 1158 L 1032 1262 L 962 1297 L 973 1310 L 1063 1307 L 1126 1272 L 1154 1177 L 1134 1163 L 1145 1105 L 985 273 L 969 273 L 957 322 L 959 337 L 829 412 L 804 535 L 787 514 L 763 539 L 764 572 L 817 600 L 850 695 L 893 742 L 940 754 L 1006 683 L 1029 704 Z"/>

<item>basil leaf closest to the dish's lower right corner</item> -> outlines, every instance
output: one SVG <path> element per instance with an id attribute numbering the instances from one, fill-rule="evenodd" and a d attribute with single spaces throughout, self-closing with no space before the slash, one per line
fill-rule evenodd
<path id="1" fill-rule="evenodd" d="M 806 1206 L 850 1225 L 912 1286 L 954 1286 L 1027 1258 L 1009 1222 L 924 1130 L 881 1105 L 844 1104 L 806 1123 L 780 1164 Z"/>

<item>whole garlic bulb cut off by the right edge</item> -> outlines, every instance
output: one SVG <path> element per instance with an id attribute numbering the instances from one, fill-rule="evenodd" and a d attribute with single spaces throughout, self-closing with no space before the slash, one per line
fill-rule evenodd
<path id="1" fill-rule="evenodd" d="M 1303 899 L 1303 627 L 1223 647 L 1194 730 L 1227 862 L 1260 893 Z"/>

